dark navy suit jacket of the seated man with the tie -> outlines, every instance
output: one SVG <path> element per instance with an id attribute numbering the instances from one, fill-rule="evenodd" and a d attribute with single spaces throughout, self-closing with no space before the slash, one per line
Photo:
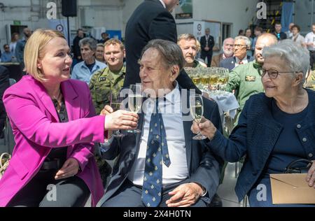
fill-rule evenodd
<path id="1" fill-rule="evenodd" d="M 182 90 L 183 93 L 183 90 Z M 182 96 L 181 104 L 188 104 L 189 110 L 189 94 L 186 99 Z M 185 110 L 183 107 L 182 110 Z M 187 114 L 183 115 L 189 115 Z M 143 114 L 139 115 L 139 129 L 143 126 Z M 218 112 L 218 106 L 214 101 L 204 98 L 204 117 L 211 120 L 216 127 L 222 131 L 221 118 Z M 192 121 L 183 121 L 183 129 L 185 133 L 186 141 L 186 157 L 188 163 L 189 178 L 187 182 L 200 183 L 206 188 L 207 195 L 202 197 L 207 203 L 210 203 L 212 197 L 216 193 L 218 183 L 220 179 L 220 171 L 223 162 L 220 158 L 215 156 L 209 148 L 205 145 L 205 141 L 195 141 L 193 136 L 195 134 L 190 131 Z M 123 131 L 125 133 L 125 131 Z M 118 157 L 116 164 L 113 166 L 113 173 L 109 186 L 107 187 L 106 194 L 100 202 L 104 202 L 115 194 L 120 185 L 122 185 L 128 176 L 128 173 L 132 169 L 134 160 L 137 158 L 137 152 L 139 150 L 141 134 L 126 134 L 123 138 L 115 138 L 111 143 L 109 150 L 107 150 L 103 157 L 105 159 L 115 159 Z M 169 147 L 172 148 L 172 147 Z M 172 162 L 172 159 L 171 159 Z M 127 200 L 127 199 L 126 199 Z"/>

